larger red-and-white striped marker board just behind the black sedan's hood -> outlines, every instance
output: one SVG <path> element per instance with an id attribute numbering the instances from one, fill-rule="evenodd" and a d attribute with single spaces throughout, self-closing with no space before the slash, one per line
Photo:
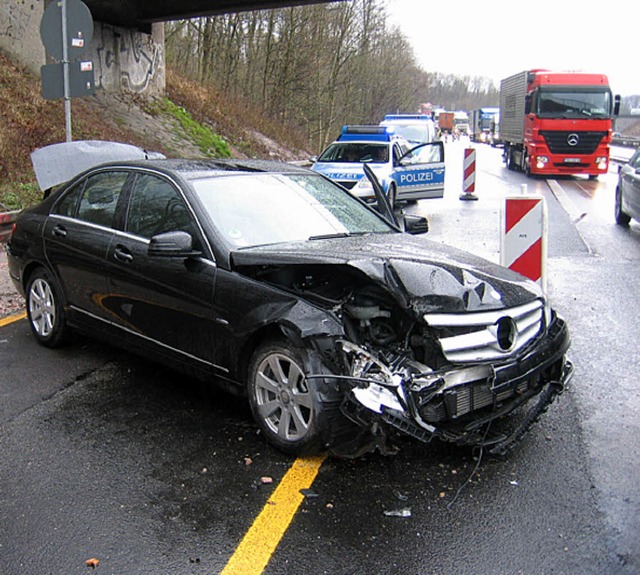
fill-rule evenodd
<path id="1" fill-rule="evenodd" d="M 500 263 L 546 290 L 547 206 L 539 195 L 526 194 L 505 198 L 502 210 Z"/>

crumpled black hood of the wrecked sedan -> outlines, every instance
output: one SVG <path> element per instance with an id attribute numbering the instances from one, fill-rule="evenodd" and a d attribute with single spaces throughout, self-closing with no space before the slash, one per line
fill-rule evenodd
<path id="1" fill-rule="evenodd" d="M 243 266 L 348 265 L 418 313 L 484 311 L 543 297 L 537 284 L 467 252 L 408 234 L 372 234 L 237 250 Z"/>

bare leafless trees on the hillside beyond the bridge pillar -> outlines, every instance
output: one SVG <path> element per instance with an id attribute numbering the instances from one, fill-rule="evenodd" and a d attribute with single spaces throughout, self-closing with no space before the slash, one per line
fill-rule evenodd
<path id="1" fill-rule="evenodd" d="M 167 65 L 247 108 L 301 130 L 314 150 L 345 123 L 498 104 L 483 77 L 424 70 L 381 0 L 227 14 L 168 23 Z"/>

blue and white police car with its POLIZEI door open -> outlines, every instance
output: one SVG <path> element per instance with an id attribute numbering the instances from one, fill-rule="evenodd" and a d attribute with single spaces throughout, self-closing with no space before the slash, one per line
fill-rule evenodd
<path id="1" fill-rule="evenodd" d="M 432 142 L 412 146 L 385 126 L 343 126 L 311 167 L 355 196 L 374 201 L 375 192 L 364 176 L 368 164 L 393 207 L 396 202 L 441 198 L 444 195 L 444 146 Z"/>

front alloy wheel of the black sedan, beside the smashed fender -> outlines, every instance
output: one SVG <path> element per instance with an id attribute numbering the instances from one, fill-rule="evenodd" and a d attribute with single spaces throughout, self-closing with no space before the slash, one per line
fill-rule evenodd
<path id="1" fill-rule="evenodd" d="M 305 374 L 303 351 L 284 342 L 261 346 L 249 366 L 251 411 L 269 442 L 293 455 L 320 450 L 320 402 Z"/>

